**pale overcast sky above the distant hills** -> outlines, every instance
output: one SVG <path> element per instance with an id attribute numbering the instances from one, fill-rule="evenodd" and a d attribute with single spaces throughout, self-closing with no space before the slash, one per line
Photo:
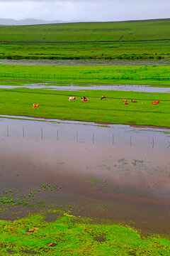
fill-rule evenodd
<path id="1" fill-rule="evenodd" d="M 126 21 L 170 18 L 170 0 L 0 0 L 0 18 Z"/>

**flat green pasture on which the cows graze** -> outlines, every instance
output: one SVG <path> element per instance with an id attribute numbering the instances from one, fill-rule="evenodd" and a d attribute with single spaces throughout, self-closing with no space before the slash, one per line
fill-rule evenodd
<path id="1" fill-rule="evenodd" d="M 67 92 L 23 87 L 1 89 L 0 92 L 0 114 L 170 127 L 169 93 L 94 90 Z M 106 95 L 107 100 L 100 100 L 102 95 Z M 77 100 L 69 102 L 69 96 L 75 96 Z M 81 102 L 81 96 L 87 97 L 89 102 Z M 129 105 L 123 104 L 123 98 L 128 100 Z M 131 103 L 131 99 L 137 100 L 137 103 Z M 152 105 L 155 100 L 161 102 Z M 33 110 L 33 103 L 40 104 L 39 110 Z"/>

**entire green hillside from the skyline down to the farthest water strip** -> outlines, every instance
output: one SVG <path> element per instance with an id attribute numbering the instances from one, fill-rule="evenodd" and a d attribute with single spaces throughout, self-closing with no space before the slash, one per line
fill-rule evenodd
<path id="1" fill-rule="evenodd" d="M 169 58 L 169 26 L 169 19 L 0 26 L 2 42 L 0 58 L 129 60 Z"/>

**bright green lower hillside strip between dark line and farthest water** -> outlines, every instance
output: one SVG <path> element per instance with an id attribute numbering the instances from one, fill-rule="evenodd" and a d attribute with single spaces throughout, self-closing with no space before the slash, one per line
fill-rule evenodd
<path id="1" fill-rule="evenodd" d="M 160 60 L 170 58 L 170 41 L 108 43 L 1 43 L 0 58 L 50 60 Z"/>

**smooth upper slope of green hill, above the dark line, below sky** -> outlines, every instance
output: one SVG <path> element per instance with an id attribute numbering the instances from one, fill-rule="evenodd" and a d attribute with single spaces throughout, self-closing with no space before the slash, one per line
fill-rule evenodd
<path id="1" fill-rule="evenodd" d="M 86 42 L 170 40 L 170 19 L 0 26 L 0 41 Z"/>

